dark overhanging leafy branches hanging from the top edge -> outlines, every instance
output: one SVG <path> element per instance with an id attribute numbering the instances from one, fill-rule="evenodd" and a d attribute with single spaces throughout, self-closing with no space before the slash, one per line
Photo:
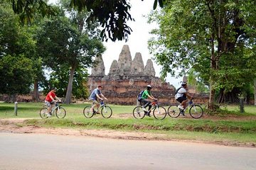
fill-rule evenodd
<path id="1" fill-rule="evenodd" d="M 44 0 L 8 0 L 11 1 L 14 12 L 18 13 L 22 23 L 30 23 L 36 13 L 42 16 L 56 16 L 58 12 L 53 6 L 48 6 Z M 139 1 L 139 0 L 137 0 Z M 143 0 L 142 0 L 143 1 Z M 163 6 L 166 0 L 154 0 L 154 9 L 159 3 Z M 102 40 L 128 40 L 132 29 L 127 26 L 127 21 L 134 21 L 129 10 L 128 0 L 71 0 L 70 6 L 78 8 L 78 11 L 86 9 L 90 12 L 87 23 L 99 21 L 103 30 Z"/>

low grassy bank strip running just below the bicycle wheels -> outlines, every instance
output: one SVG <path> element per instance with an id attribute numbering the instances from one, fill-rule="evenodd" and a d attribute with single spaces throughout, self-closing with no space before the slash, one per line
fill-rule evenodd
<path id="1" fill-rule="evenodd" d="M 47 125 L 51 127 L 73 127 L 73 128 L 103 128 L 110 130 L 184 130 L 188 132 L 235 132 L 252 133 L 256 135 L 255 120 L 230 121 L 230 120 L 185 120 L 185 119 L 167 119 L 167 120 L 134 120 L 134 119 L 57 119 L 49 118 L 46 120 L 31 119 L 24 122 L 26 125 Z"/>

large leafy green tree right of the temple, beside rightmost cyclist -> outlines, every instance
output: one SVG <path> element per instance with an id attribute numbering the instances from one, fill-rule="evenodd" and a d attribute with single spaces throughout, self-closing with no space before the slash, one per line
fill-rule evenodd
<path id="1" fill-rule="evenodd" d="M 149 49 L 162 76 L 193 67 L 210 84 L 208 108 L 214 109 L 216 90 L 231 91 L 253 76 L 245 65 L 255 57 L 255 7 L 253 1 L 166 1 L 149 18 L 159 23 Z"/>

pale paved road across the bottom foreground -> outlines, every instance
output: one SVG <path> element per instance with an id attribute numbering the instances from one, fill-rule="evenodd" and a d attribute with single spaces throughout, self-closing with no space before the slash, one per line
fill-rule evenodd
<path id="1" fill-rule="evenodd" d="M 256 149 L 0 132 L 0 169 L 256 169 Z"/>

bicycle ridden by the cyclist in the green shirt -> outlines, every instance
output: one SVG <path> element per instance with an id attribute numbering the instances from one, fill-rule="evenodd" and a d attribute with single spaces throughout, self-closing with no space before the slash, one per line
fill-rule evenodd
<path id="1" fill-rule="evenodd" d="M 163 106 L 159 106 L 157 100 L 151 102 L 151 109 L 149 111 L 144 111 L 142 106 L 136 106 L 132 112 L 134 118 L 143 119 L 145 115 L 149 115 L 153 111 L 154 118 L 162 120 L 166 117 L 166 109 Z"/>

